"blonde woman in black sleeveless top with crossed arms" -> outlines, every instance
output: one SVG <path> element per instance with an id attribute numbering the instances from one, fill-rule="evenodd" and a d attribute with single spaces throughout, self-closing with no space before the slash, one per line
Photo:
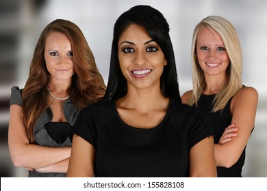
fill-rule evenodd
<path id="1" fill-rule="evenodd" d="M 212 121 L 218 177 L 242 177 L 258 94 L 242 84 L 240 42 L 227 19 L 207 16 L 196 25 L 192 76 L 193 89 L 181 99 L 207 113 Z"/>

